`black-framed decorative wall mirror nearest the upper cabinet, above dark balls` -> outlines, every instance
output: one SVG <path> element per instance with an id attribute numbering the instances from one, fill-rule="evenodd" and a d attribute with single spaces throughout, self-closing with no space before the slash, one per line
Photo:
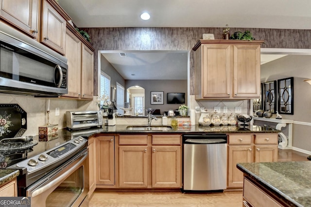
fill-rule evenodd
<path id="1" fill-rule="evenodd" d="M 276 80 L 263 83 L 263 110 L 276 113 Z"/>

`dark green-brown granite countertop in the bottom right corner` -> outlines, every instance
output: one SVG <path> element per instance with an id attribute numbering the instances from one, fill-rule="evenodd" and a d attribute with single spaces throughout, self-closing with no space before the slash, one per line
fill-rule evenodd
<path id="1" fill-rule="evenodd" d="M 238 163 L 237 168 L 290 206 L 311 207 L 311 161 Z"/>

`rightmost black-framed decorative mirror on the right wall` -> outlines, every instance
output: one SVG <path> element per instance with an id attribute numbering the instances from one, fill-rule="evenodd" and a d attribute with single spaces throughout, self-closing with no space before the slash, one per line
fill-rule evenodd
<path id="1" fill-rule="evenodd" d="M 278 113 L 294 114 L 294 77 L 277 80 Z"/>

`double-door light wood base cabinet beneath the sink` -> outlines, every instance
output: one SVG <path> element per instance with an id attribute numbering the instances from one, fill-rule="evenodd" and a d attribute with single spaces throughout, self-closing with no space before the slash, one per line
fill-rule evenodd
<path id="1" fill-rule="evenodd" d="M 120 135 L 119 187 L 181 188 L 181 135 Z"/>

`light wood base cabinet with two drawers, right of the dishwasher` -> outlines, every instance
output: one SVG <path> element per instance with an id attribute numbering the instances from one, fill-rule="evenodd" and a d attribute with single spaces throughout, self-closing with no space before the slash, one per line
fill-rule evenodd
<path id="1" fill-rule="evenodd" d="M 229 188 L 243 187 L 243 173 L 237 163 L 277 161 L 277 133 L 228 135 Z"/>

